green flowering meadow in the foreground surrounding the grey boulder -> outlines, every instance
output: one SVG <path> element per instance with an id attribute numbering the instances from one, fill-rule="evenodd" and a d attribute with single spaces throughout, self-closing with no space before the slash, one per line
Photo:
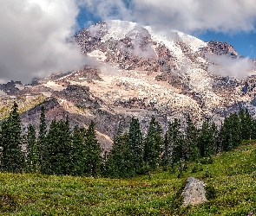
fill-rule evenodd
<path id="1" fill-rule="evenodd" d="M 256 144 L 213 156 L 212 164 L 188 164 L 131 179 L 0 173 L 1 215 L 248 215 L 256 213 Z M 193 172 L 192 172 L 193 170 Z M 200 171 L 197 171 L 200 170 Z M 211 198 L 181 206 L 188 176 L 207 183 Z M 215 194 L 214 194 L 215 190 Z"/>

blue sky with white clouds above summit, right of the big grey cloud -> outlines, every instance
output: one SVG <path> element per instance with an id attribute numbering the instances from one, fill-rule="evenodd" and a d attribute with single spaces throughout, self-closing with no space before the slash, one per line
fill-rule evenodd
<path id="1" fill-rule="evenodd" d="M 169 26 L 170 29 L 174 26 L 174 29 L 194 35 L 202 41 L 225 41 L 233 45 L 240 55 L 256 59 L 254 0 L 238 0 L 236 2 L 240 3 L 239 5 L 235 5 L 233 0 L 216 0 L 214 3 L 212 0 L 174 0 L 172 3 L 166 0 L 82 2 L 76 18 L 79 29 L 106 19 L 162 25 L 162 28 Z M 189 5 L 189 2 L 197 3 L 197 8 Z M 228 3 L 230 6 L 226 7 Z"/>

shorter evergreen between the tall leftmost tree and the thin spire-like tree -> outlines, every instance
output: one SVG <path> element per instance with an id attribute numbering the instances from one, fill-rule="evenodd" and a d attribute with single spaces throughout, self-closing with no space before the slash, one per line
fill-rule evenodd
<path id="1" fill-rule="evenodd" d="M 25 135 L 27 144 L 26 172 L 36 173 L 40 171 L 39 152 L 36 142 L 36 130 L 32 124 L 29 125 Z"/>

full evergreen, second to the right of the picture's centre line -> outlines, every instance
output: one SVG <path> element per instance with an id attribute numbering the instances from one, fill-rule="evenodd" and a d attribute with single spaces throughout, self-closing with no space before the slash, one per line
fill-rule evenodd
<path id="1" fill-rule="evenodd" d="M 144 142 L 144 162 L 150 170 L 154 170 L 159 165 L 162 146 L 161 132 L 160 124 L 153 117 Z"/>

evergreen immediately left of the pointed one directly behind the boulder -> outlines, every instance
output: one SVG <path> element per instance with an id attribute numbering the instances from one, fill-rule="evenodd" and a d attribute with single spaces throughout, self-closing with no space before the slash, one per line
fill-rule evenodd
<path id="1" fill-rule="evenodd" d="M 184 137 L 181 133 L 181 124 L 177 118 L 169 124 L 165 134 L 161 165 L 173 166 L 174 162 L 180 162 L 183 158 Z"/>

